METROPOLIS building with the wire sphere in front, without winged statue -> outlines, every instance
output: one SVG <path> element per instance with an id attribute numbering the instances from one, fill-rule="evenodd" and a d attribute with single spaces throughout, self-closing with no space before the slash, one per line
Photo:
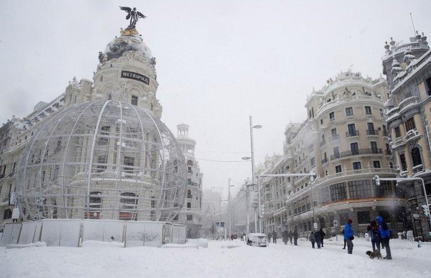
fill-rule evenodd
<path id="1" fill-rule="evenodd" d="M 160 121 L 156 59 L 134 26 L 51 102 L 0 128 L 2 222 L 171 221 L 187 194 L 183 150 Z M 17 200 L 17 201 L 16 201 Z"/>

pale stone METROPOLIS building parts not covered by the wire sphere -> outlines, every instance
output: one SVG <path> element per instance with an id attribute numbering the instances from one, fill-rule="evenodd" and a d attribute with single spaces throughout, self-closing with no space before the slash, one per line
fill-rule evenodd
<path id="1" fill-rule="evenodd" d="M 162 107 L 156 98 L 156 60 L 136 30 L 121 29 L 120 36 L 99 52 L 93 81 L 76 77 L 65 92 L 51 102 L 39 102 L 26 117 L 15 116 L 0 127 L 0 225 L 11 222 L 10 205 L 15 191 L 15 174 L 27 143 L 47 121 L 71 105 L 87 101 L 118 100 L 146 108 L 160 118 Z M 12 200 L 13 201 L 13 200 Z M 1 229 L 1 226 L 0 226 Z"/>

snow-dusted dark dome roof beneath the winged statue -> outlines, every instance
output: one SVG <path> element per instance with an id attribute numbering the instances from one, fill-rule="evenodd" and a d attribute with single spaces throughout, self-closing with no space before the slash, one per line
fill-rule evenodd
<path id="1" fill-rule="evenodd" d="M 107 44 L 103 54 L 106 54 L 107 61 L 109 61 L 121 57 L 126 51 L 137 51 L 145 56 L 149 62 L 153 58 L 151 50 L 142 41 L 136 29 L 121 30 L 121 36 L 114 38 Z"/>

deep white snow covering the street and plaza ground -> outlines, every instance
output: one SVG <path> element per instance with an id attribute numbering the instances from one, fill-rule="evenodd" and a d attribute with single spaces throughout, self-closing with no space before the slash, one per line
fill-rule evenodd
<path id="1" fill-rule="evenodd" d="M 355 239 L 353 255 L 339 242 L 325 240 L 311 249 L 279 239 L 268 248 L 242 242 L 209 241 L 208 248 L 0 248 L 1 277 L 431 277 L 431 245 L 392 240 L 392 261 L 371 260 L 371 243 Z M 234 245 L 239 247 L 232 248 Z M 385 251 L 382 252 L 385 256 Z"/>

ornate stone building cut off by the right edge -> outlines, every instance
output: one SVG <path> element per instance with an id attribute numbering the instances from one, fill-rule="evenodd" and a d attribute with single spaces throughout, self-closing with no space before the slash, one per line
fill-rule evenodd
<path id="1" fill-rule="evenodd" d="M 391 38 L 385 45 L 382 64 L 390 85 L 385 106 L 397 173 L 400 177 L 422 178 L 431 199 L 431 52 L 426 38 L 423 33 L 417 34 L 401 45 Z M 399 187 L 407 191 L 407 212 L 414 235 L 430 240 L 428 219 L 421 207 L 425 205 L 422 183 L 400 182 Z"/>

